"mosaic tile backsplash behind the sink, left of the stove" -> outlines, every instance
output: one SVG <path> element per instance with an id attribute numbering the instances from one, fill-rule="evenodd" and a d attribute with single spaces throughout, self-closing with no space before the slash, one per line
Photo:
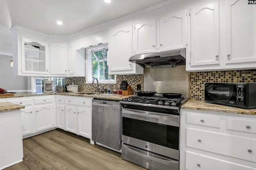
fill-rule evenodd
<path id="1" fill-rule="evenodd" d="M 120 90 L 120 84 L 122 80 L 127 80 L 128 84 L 131 86 L 133 92 L 137 90 L 137 84 L 141 84 L 141 91 L 143 91 L 143 74 L 136 74 L 136 75 L 117 75 L 116 76 L 116 84 L 110 84 L 110 91 L 113 91 L 113 88 Z M 92 86 L 91 83 L 86 84 L 86 77 L 66 77 L 65 84 L 78 84 L 78 91 L 79 92 L 94 92 L 97 90 L 96 85 Z M 96 83 L 96 81 L 95 81 Z M 108 88 L 108 84 L 99 84 L 100 91 Z"/>

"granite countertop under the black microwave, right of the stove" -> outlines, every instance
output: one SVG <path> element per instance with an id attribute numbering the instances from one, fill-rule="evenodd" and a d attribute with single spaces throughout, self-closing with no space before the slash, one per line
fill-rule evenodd
<path id="1" fill-rule="evenodd" d="M 182 105 L 183 109 L 206 110 L 206 111 L 220 111 L 227 113 L 238 113 L 247 115 L 256 115 L 255 109 L 243 109 L 239 107 L 224 106 L 219 104 L 210 104 L 200 100 L 188 100 Z"/>

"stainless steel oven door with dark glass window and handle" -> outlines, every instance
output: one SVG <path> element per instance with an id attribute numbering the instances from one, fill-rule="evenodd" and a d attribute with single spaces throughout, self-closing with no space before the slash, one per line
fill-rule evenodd
<path id="1" fill-rule="evenodd" d="M 122 142 L 179 160 L 180 116 L 122 107 Z"/>

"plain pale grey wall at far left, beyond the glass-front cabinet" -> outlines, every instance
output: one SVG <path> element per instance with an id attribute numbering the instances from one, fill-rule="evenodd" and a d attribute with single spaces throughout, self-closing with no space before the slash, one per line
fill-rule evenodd
<path id="1" fill-rule="evenodd" d="M 0 88 L 7 90 L 31 90 L 31 77 L 13 76 L 10 60 L 12 60 L 12 57 L 0 55 Z"/>

